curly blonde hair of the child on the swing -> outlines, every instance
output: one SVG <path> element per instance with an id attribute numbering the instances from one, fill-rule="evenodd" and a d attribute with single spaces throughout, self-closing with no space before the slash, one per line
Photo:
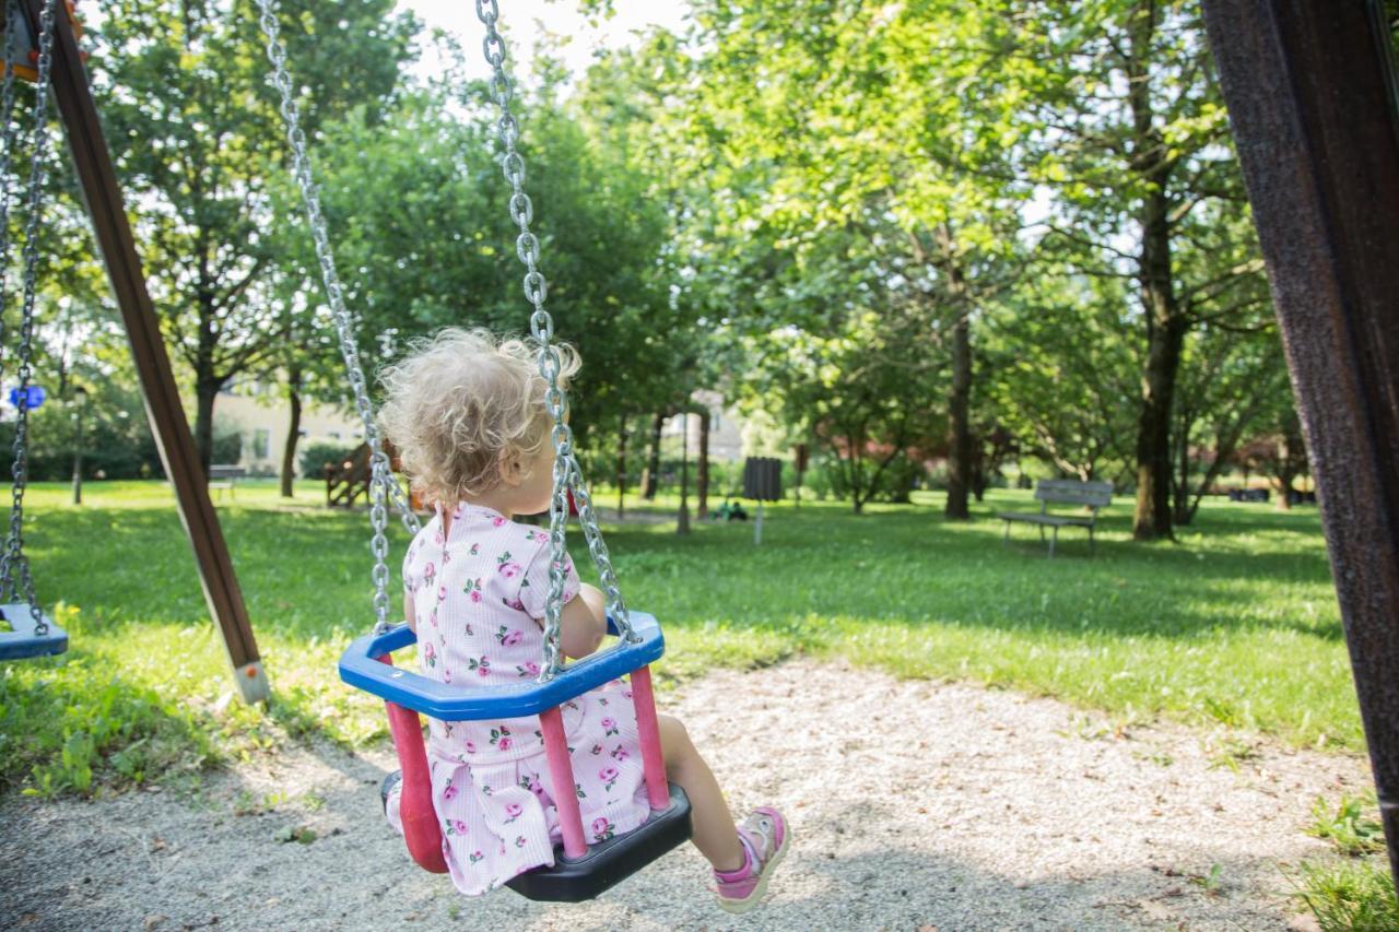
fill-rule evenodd
<path id="1" fill-rule="evenodd" d="M 578 353 L 553 346 L 565 385 L 578 371 Z M 414 491 L 456 504 L 499 486 L 509 459 L 539 455 L 551 424 L 536 351 L 525 340 L 446 327 L 379 374 L 386 392 L 379 425 Z"/>

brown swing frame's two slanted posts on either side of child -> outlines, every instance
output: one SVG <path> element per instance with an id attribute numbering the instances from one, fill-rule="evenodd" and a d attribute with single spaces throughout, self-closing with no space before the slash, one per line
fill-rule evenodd
<path id="1" fill-rule="evenodd" d="M 494 7 L 494 4 L 491 4 Z M 1381 4 L 1205 0 L 1288 367 L 1322 490 L 1391 865 L 1399 875 L 1399 115 Z M 257 647 L 180 409 L 83 56 L 53 0 L 52 81 L 147 413 L 245 700 Z M 1368 53 L 1365 53 L 1368 50 Z"/>

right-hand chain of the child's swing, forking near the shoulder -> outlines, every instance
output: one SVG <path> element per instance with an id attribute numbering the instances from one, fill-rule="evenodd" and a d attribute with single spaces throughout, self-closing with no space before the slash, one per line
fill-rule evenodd
<path id="1" fill-rule="evenodd" d="M 511 112 L 511 99 L 515 94 L 511 77 L 505 73 L 505 39 L 497 31 L 499 7 L 497 0 L 476 0 L 476 15 L 485 25 L 485 38 L 481 39 L 481 50 L 485 63 L 491 67 L 491 97 L 499 109 L 495 120 L 495 132 L 504 153 L 499 155 L 501 172 L 511 183 L 509 211 L 511 220 L 519 227 L 519 236 L 515 239 L 515 253 L 525 264 L 525 298 L 533 305 L 530 313 L 530 334 L 539 343 L 539 372 L 547 385 L 544 390 L 544 406 L 548 409 L 554 428 L 550 439 L 554 444 L 554 488 L 548 502 L 548 600 L 544 607 L 544 663 L 539 673 L 539 682 L 547 683 L 562 668 L 562 654 L 558 649 L 560 620 L 564 609 L 564 582 L 568 549 L 565 528 L 568 525 L 568 490 L 572 487 L 574 501 L 578 504 L 578 522 L 583 528 L 588 540 L 588 553 L 597 567 L 603 589 L 607 599 L 607 612 L 621 637 L 635 644 L 639 635 L 631 627 L 627 605 L 621 598 L 617 585 L 617 574 L 613 571 L 607 546 L 603 543 L 602 529 L 597 526 L 597 515 L 592 508 L 592 498 L 583 481 L 583 472 L 578 465 L 574 452 L 574 431 L 568 425 L 568 395 L 560 385 L 558 375 L 562 361 L 558 348 L 551 346 L 554 339 L 554 319 L 544 309 L 544 299 L 548 297 L 548 283 L 544 273 L 539 270 L 539 238 L 530 232 L 530 223 L 534 218 L 534 204 L 525 193 L 525 158 L 515 144 L 519 141 L 519 120 Z"/>

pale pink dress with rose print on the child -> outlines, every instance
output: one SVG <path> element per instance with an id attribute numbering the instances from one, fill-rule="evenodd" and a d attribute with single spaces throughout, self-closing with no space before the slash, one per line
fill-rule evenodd
<path id="1" fill-rule="evenodd" d="M 578 595 L 565 564 L 564 600 Z M 403 561 L 417 616 L 425 676 L 470 686 L 539 676 L 548 599 L 548 533 L 490 508 L 459 505 L 449 535 L 442 516 L 418 533 Z M 651 814 L 631 690 L 614 680 L 564 705 L 564 730 L 589 842 L 624 834 Z M 456 887 L 490 893 L 537 865 L 560 841 L 555 788 L 537 718 L 429 719 L 432 803 Z M 402 828 L 402 827 L 400 827 Z"/>

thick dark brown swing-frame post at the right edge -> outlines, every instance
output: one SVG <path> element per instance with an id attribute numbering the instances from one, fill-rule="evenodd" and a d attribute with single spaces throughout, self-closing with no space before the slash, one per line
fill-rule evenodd
<path id="1" fill-rule="evenodd" d="M 1399 880 L 1399 109 L 1363 0 L 1205 0 Z"/>

